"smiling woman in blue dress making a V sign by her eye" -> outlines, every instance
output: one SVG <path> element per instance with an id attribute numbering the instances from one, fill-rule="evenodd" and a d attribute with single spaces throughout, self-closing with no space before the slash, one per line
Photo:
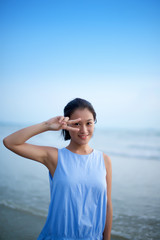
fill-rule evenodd
<path id="1" fill-rule="evenodd" d="M 38 161 L 49 170 L 51 201 L 38 240 L 109 240 L 112 227 L 110 158 L 89 146 L 96 113 L 91 103 L 76 98 L 64 116 L 21 129 L 4 139 L 16 154 Z M 26 143 L 45 131 L 62 130 L 66 148 Z"/>

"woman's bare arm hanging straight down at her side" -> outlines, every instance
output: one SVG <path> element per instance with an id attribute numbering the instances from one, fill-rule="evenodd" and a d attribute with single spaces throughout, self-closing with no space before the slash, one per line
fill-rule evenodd
<path id="1" fill-rule="evenodd" d="M 106 224 L 103 232 L 103 239 L 111 239 L 111 229 L 112 229 L 112 199 L 111 199 L 111 189 L 112 189 L 112 163 L 111 159 L 104 154 L 104 160 L 107 170 L 106 181 L 107 181 L 107 215 L 106 215 Z"/>

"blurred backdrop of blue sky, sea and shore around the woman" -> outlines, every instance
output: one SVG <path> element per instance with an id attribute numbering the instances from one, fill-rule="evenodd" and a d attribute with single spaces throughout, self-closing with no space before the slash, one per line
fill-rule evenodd
<path id="1" fill-rule="evenodd" d="M 76 97 L 93 104 L 91 144 L 112 159 L 113 239 L 160 238 L 159 24 L 158 0 L 0 1 L 1 239 L 36 239 L 49 204 L 47 169 L 2 139 Z M 68 144 L 53 132 L 29 141 Z"/>

